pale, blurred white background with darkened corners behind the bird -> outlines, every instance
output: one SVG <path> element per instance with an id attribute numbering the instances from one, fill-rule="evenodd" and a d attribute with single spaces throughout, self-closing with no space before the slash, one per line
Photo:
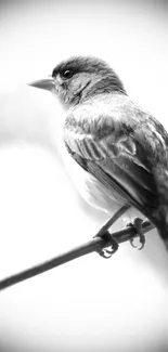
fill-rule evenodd
<path id="1" fill-rule="evenodd" d="M 168 130 L 168 2 L 1 0 L 0 42 L 2 278 L 89 240 L 107 220 L 65 172 L 63 110 L 27 82 L 68 56 L 100 56 Z M 155 231 L 142 251 L 125 244 L 108 261 L 92 253 L 0 294 L 1 352 L 112 350 L 168 351 L 168 256 Z"/>

